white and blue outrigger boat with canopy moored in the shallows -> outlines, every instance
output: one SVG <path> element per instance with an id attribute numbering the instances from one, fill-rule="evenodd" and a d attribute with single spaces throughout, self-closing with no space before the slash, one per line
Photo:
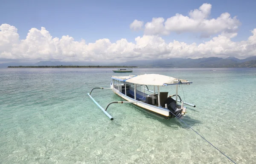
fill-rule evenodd
<path id="1" fill-rule="evenodd" d="M 111 89 L 125 101 L 111 102 L 104 109 L 91 96 L 93 89 L 88 93 L 93 102 L 111 120 L 113 117 L 107 112 L 111 104 L 134 104 L 165 119 L 185 116 L 187 107 L 184 104 L 195 107 L 194 104 L 182 101 L 178 95 L 178 86 L 189 85 L 192 83 L 190 81 L 158 74 L 112 76 L 111 79 L 110 88 L 96 87 L 93 89 Z M 168 95 L 169 92 L 160 92 L 162 86 L 176 86 L 176 93 Z M 152 90 L 148 87 L 151 87 Z"/>

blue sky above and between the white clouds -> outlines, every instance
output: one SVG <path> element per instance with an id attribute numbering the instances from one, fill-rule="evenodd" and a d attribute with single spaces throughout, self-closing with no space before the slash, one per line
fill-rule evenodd
<path id="1" fill-rule="evenodd" d="M 134 20 L 143 21 L 145 25 L 151 22 L 153 17 L 163 17 L 166 20 L 176 13 L 188 16 L 190 11 L 198 9 L 204 3 L 212 5 L 207 19 L 216 19 L 224 12 L 228 12 L 231 18 L 237 16 L 241 25 L 236 30 L 236 37 L 230 37 L 233 42 L 247 40 L 252 35 L 251 30 L 256 28 L 254 0 L 9 0 L 1 2 L 0 25 L 6 23 L 15 26 L 19 40 L 26 39 L 31 28 L 41 30 L 41 27 L 45 27 L 52 37 L 61 38 L 69 35 L 75 41 L 80 42 L 84 39 L 86 44 L 95 43 L 96 40 L 103 38 L 109 39 L 111 43 L 122 38 L 136 43 L 135 38 L 143 37 L 144 32 L 130 29 L 129 26 Z M 200 44 L 220 34 L 221 32 L 215 32 L 210 37 L 201 38 L 198 32 L 185 31 L 177 34 L 171 31 L 169 35 L 159 35 L 159 37 L 162 37 L 167 44 L 173 40 Z M 70 50 L 70 52 L 74 51 Z M 13 53 L 13 50 L 10 50 L 10 53 Z M 20 53 L 28 55 L 27 51 Z M 215 54 L 215 52 L 211 53 Z M 96 55 L 96 52 L 93 54 Z M 249 55 L 234 56 L 242 58 Z M 6 54 L 1 57 L 9 58 Z"/>

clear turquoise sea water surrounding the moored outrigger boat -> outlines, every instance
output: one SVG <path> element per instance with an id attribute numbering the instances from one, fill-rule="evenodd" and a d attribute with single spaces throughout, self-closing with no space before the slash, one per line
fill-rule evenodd
<path id="1" fill-rule="evenodd" d="M 156 73 L 192 81 L 178 94 L 196 107 L 183 118 L 237 164 L 256 163 L 256 69 L 0 69 L 0 164 L 227 164 L 181 121 L 131 104 L 108 108 L 87 92 L 112 75 Z M 175 87 L 161 87 L 175 94 Z M 184 94 L 183 94 L 184 93 Z M 94 90 L 103 107 L 122 101 Z"/>

